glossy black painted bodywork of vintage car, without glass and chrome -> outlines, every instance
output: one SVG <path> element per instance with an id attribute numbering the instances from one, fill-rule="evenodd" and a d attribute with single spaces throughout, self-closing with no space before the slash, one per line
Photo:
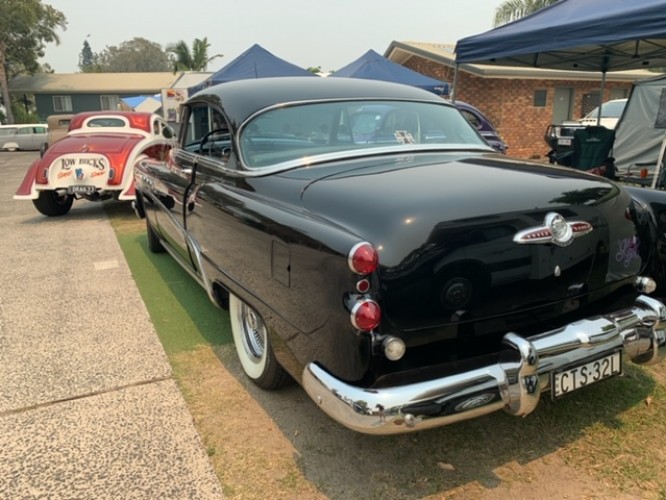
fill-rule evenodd
<path id="1" fill-rule="evenodd" d="M 374 97 L 383 89 L 331 88 L 342 97 L 370 91 Z M 262 102 L 259 94 L 228 86 L 224 94 L 211 90 L 193 100 L 218 105 L 237 130 L 264 106 L 295 95 L 318 97 L 309 89 L 280 82 Z M 393 90 L 386 92 L 393 96 Z M 405 90 L 400 97 L 423 94 Z M 424 378 L 467 358 L 492 355 L 507 331 L 529 334 L 538 324 L 555 327 L 636 297 L 632 284 L 641 259 L 634 256 L 624 267 L 612 258 L 618 241 L 637 234 L 624 217 L 631 200 L 595 176 L 464 152 L 379 156 L 262 176 L 244 175 L 233 153 L 221 167 L 176 150 L 170 164 L 145 162 L 141 171 L 139 179 L 152 183 L 137 185 L 151 224 L 193 274 L 205 274 L 260 312 L 276 356 L 296 379 L 313 360 L 342 380 L 367 386 L 387 377 Z M 506 185 L 510 197 L 501 189 Z M 532 208 L 525 213 L 524 207 Z M 540 224 L 550 210 L 594 221 L 594 239 L 555 249 L 508 244 L 517 230 Z M 408 218 L 414 220 L 405 231 Z M 609 219 L 624 221 L 619 231 Z M 456 230 L 460 225 L 467 229 Z M 387 362 L 373 336 L 355 331 L 349 321 L 357 277 L 346 258 L 360 240 L 380 248 L 397 241 L 380 251 L 381 267 L 371 280 L 386 312 L 379 331 L 400 336 L 408 346 L 408 356 L 398 363 Z M 483 268 L 494 252 L 505 255 L 496 269 Z M 535 258 L 545 271 L 531 276 L 533 271 L 521 267 Z M 476 262 L 481 269 L 470 265 Z M 556 280 L 552 268 L 558 264 L 563 274 Z M 448 283 L 440 271 L 456 278 L 470 267 L 476 274 L 463 278 L 478 280 L 477 296 L 443 308 L 441 300 L 432 302 Z M 494 282 L 493 272 L 502 271 L 508 277 Z"/>

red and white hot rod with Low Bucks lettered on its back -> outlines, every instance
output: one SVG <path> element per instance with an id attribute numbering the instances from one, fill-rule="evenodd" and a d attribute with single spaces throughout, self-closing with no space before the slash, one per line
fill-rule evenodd
<path id="1" fill-rule="evenodd" d="M 167 122 L 152 113 L 92 111 L 71 119 L 67 134 L 36 160 L 14 194 L 39 212 L 65 215 L 75 199 L 134 199 L 134 165 L 164 160 L 174 144 Z"/>

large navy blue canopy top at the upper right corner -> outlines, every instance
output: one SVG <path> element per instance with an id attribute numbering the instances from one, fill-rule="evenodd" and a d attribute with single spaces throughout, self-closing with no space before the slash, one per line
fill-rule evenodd
<path id="1" fill-rule="evenodd" d="M 455 52 L 457 64 L 600 71 L 603 92 L 608 71 L 666 66 L 666 1 L 560 0 Z"/>

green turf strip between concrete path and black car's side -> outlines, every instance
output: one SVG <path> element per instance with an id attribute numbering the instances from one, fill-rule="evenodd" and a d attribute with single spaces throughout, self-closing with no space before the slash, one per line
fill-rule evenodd
<path id="1" fill-rule="evenodd" d="M 167 355 L 232 342 L 227 312 L 171 256 L 151 253 L 145 233 L 116 236 Z"/>

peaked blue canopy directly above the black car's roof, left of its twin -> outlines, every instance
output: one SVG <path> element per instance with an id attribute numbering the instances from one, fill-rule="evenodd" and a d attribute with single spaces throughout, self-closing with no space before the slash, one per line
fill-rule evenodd
<path id="1" fill-rule="evenodd" d="M 271 76 L 316 76 L 310 71 L 274 56 L 258 44 L 254 44 L 229 64 L 213 73 L 206 80 L 188 89 L 189 95 L 201 89 L 231 80 L 267 78 Z"/>

